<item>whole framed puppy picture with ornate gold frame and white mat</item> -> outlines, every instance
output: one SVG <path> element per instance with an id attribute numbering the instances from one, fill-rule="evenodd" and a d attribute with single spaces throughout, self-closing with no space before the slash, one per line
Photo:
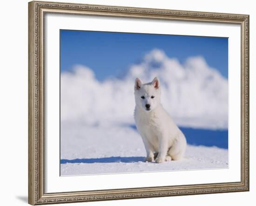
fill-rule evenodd
<path id="1" fill-rule="evenodd" d="M 29 204 L 249 191 L 249 15 L 28 8 Z"/>

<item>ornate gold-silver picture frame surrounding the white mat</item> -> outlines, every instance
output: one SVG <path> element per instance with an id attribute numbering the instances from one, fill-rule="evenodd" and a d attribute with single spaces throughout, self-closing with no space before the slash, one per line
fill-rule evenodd
<path id="1" fill-rule="evenodd" d="M 241 181 L 45 193 L 44 190 L 44 14 L 219 22 L 241 26 Z M 115 7 L 57 2 L 28 3 L 28 203 L 31 205 L 249 191 L 249 15 Z"/>

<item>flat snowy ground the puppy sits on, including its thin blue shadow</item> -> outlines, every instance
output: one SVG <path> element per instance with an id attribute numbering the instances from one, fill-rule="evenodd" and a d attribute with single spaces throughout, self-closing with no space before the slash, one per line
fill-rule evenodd
<path id="1" fill-rule="evenodd" d="M 228 167 L 228 149 L 188 145 L 182 160 L 149 163 L 144 162 L 144 145 L 140 135 L 132 127 L 88 127 L 71 123 L 61 125 L 61 175 Z"/>

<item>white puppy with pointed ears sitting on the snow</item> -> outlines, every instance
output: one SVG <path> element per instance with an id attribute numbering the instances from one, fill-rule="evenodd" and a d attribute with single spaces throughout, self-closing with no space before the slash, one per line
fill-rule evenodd
<path id="1" fill-rule="evenodd" d="M 146 161 L 156 163 L 182 159 L 187 146 L 184 134 L 162 107 L 160 96 L 158 78 L 146 84 L 136 78 L 135 123 L 147 151 Z"/>

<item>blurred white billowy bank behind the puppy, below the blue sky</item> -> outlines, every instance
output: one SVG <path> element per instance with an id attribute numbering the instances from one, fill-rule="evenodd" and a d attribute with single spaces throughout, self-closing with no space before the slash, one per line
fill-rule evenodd
<path id="1" fill-rule="evenodd" d="M 93 70 L 80 65 L 61 73 L 61 121 L 134 124 L 134 80 L 148 82 L 155 76 L 161 82 L 162 104 L 179 126 L 228 127 L 228 80 L 202 57 L 182 65 L 158 49 L 121 78 L 100 82 Z"/>

